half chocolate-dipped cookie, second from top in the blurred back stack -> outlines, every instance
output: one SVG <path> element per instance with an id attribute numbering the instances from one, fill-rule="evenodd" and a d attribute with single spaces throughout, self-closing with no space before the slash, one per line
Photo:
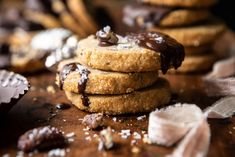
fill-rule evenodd
<path id="1" fill-rule="evenodd" d="M 129 26 L 141 28 L 153 26 L 185 26 L 208 19 L 206 9 L 183 9 L 174 7 L 151 6 L 144 4 L 128 5 L 124 8 L 123 21 Z"/>

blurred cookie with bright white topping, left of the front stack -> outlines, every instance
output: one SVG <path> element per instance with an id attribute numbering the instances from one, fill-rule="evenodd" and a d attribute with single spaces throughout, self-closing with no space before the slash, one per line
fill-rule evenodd
<path id="1" fill-rule="evenodd" d="M 59 60 L 71 57 L 71 38 L 75 38 L 76 46 L 76 37 L 62 28 L 42 31 L 32 37 L 28 37 L 27 33 L 21 34 L 21 42 L 11 46 L 12 69 L 21 73 L 35 72 L 45 69 L 45 64 L 51 67 Z"/>

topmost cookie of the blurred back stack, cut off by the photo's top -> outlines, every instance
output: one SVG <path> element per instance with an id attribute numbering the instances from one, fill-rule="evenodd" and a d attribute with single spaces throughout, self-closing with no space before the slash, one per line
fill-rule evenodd
<path id="1" fill-rule="evenodd" d="M 173 7 L 210 7 L 217 0 L 140 0 L 143 3 L 152 5 L 173 6 Z"/>

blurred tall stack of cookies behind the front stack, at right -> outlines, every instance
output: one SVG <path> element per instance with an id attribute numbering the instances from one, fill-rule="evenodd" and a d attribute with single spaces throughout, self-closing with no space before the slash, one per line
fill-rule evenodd
<path id="1" fill-rule="evenodd" d="M 124 23 L 166 33 L 182 43 L 186 57 L 178 72 L 202 72 L 212 67 L 216 59 L 212 45 L 225 30 L 208 11 L 216 0 L 140 1 L 125 7 Z"/>

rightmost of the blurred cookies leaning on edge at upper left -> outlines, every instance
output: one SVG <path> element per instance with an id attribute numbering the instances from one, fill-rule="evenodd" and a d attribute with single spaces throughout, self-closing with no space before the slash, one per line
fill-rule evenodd
<path id="1" fill-rule="evenodd" d="M 92 34 L 97 31 L 97 25 L 90 16 L 84 0 L 67 0 L 66 3 L 73 16 L 80 22 L 87 34 Z M 90 4 L 87 5 L 90 7 Z"/>

